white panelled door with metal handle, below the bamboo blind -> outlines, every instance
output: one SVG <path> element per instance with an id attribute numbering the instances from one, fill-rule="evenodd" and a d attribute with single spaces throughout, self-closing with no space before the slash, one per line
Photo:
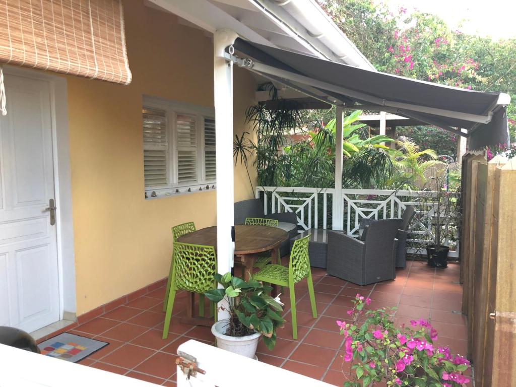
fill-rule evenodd
<path id="1" fill-rule="evenodd" d="M 50 84 L 6 74 L 5 88 L 7 116 L 0 116 L 0 325 L 32 332 L 59 320 L 56 225 L 51 225 L 52 211 L 47 209 L 55 199 Z"/>

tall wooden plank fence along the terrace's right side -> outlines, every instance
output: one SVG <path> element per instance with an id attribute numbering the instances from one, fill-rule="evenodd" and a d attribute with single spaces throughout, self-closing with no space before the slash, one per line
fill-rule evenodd
<path id="1" fill-rule="evenodd" d="M 516 379 L 516 160 L 462 161 L 462 312 L 477 387 Z"/>

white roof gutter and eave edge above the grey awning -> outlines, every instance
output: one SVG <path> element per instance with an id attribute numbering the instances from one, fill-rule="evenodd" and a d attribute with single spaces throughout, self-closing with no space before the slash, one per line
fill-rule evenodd
<path id="1" fill-rule="evenodd" d="M 376 71 L 314 0 L 249 0 L 315 56 Z"/>

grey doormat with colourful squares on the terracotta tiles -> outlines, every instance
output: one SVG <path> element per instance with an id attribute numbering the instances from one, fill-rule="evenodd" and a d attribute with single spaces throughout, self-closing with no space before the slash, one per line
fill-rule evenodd
<path id="1" fill-rule="evenodd" d="M 61 333 L 38 345 L 41 354 L 76 363 L 109 343 L 72 333 Z"/>

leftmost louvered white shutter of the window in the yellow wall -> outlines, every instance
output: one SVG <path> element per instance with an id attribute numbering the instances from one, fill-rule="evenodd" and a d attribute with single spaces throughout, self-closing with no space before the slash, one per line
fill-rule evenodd
<path id="1" fill-rule="evenodd" d="M 144 107 L 142 114 L 145 186 L 164 186 L 168 184 L 167 112 Z"/>

